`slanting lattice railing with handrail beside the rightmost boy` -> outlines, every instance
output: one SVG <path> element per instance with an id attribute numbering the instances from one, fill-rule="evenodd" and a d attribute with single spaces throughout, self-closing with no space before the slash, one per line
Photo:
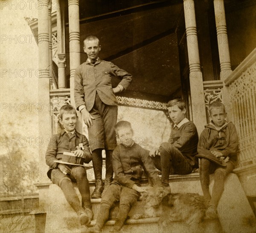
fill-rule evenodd
<path id="1" fill-rule="evenodd" d="M 225 83 L 230 95 L 233 123 L 239 136 L 238 168 L 256 165 L 256 49 Z"/>

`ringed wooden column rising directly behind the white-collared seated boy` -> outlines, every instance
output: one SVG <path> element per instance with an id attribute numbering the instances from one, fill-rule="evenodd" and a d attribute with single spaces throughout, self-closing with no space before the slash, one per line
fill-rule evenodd
<path id="1" fill-rule="evenodd" d="M 198 37 L 196 31 L 195 5 L 193 0 L 183 0 L 183 5 L 189 56 L 192 120 L 197 127 L 198 134 L 201 134 L 207 120 L 204 105 L 203 77 L 200 68 Z"/>

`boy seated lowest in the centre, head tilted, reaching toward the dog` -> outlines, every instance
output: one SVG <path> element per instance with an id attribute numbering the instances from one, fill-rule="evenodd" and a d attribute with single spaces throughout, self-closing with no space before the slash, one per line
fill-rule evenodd
<path id="1" fill-rule="evenodd" d="M 101 232 L 108 220 L 109 211 L 119 202 L 119 212 L 111 232 L 119 232 L 132 205 L 137 201 L 139 193 L 146 192 L 140 187 L 143 170 L 151 178 L 153 185 L 161 186 L 154 163 L 149 157 L 149 151 L 140 147 L 133 140 L 134 132 L 131 123 L 119 121 L 115 127 L 117 141 L 120 144 L 113 151 L 113 170 L 115 177 L 102 197 L 101 211 L 97 215 L 96 225 L 90 232 Z"/>

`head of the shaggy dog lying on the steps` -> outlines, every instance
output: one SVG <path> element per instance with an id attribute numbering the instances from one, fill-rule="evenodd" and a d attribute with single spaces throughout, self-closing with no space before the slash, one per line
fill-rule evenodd
<path id="1" fill-rule="evenodd" d="M 169 193 L 160 187 L 148 187 L 147 192 L 142 194 L 142 200 L 152 207 L 160 206 L 163 198 Z"/>

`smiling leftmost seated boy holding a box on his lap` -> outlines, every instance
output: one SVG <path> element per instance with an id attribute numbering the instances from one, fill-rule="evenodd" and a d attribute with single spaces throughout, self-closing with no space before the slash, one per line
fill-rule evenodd
<path id="1" fill-rule="evenodd" d="M 91 160 L 88 140 L 86 136 L 76 131 L 76 121 L 77 115 L 75 108 L 69 104 L 63 105 L 59 113 L 59 122 L 64 129 L 61 133 L 52 136 L 45 159 L 49 166 L 47 176 L 53 184 L 61 188 L 67 202 L 76 211 L 81 225 L 87 225 L 93 218 L 93 211 L 90 202 L 90 189 L 86 170 L 84 166 L 60 163 L 63 153 L 71 151 L 76 156 L 84 158 L 86 162 L 90 162 Z M 81 146 L 81 149 L 77 149 L 77 146 Z M 82 205 L 73 188 L 72 182 L 77 183 L 82 197 Z"/>

